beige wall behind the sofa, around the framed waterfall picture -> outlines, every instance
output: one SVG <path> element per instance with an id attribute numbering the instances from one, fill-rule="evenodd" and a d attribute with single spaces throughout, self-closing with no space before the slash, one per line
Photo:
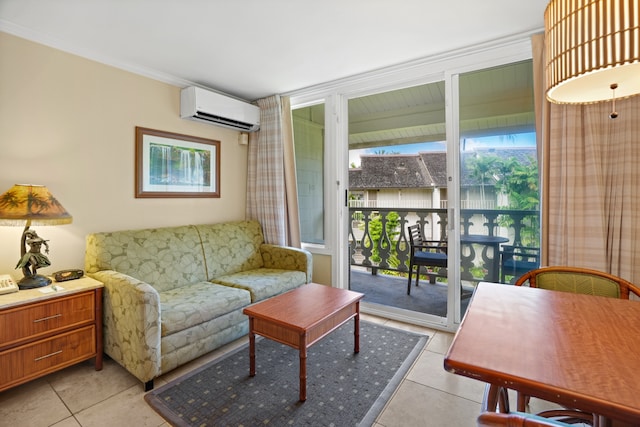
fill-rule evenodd
<path id="1" fill-rule="evenodd" d="M 51 247 L 40 273 L 83 268 L 90 232 L 244 219 L 246 146 L 236 131 L 181 119 L 179 87 L 2 32 L 0 55 L 0 194 L 44 184 L 73 215 L 34 227 Z M 136 199 L 136 126 L 220 140 L 221 197 Z M 16 279 L 21 233 L 0 226 L 0 274 Z"/>

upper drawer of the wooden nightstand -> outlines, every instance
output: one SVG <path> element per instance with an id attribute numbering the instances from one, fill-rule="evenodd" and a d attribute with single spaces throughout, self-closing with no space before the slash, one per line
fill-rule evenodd
<path id="1" fill-rule="evenodd" d="M 0 349 L 95 321 L 95 295 L 84 292 L 0 313 Z M 6 365 L 5 365 L 6 366 Z"/>

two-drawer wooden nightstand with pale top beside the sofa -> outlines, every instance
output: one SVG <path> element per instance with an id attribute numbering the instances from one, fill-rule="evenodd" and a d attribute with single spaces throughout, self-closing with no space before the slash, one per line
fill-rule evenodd
<path id="1" fill-rule="evenodd" d="M 0 295 L 0 391 L 91 358 L 102 369 L 102 283 L 53 285 Z"/>

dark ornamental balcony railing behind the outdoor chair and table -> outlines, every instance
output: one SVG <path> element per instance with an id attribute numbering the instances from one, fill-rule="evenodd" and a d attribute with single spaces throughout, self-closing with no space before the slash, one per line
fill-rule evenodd
<path id="1" fill-rule="evenodd" d="M 410 241 L 407 226 L 420 224 L 425 239 L 445 241 L 447 210 L 434 208 L 350 207 L 349 247 L 351 265 L 398 273 L 409 271 Z M 539 247 L 538 211 L 507 209 L 462 209 L 461 234 L 501 236 L 505 245 Z M 499 253 L 496 248 L 463 245 L 461 274 L 463 280 L 497 281 Z M 446 276 L 446 271 L 431 271 L 430 276 Z"/>

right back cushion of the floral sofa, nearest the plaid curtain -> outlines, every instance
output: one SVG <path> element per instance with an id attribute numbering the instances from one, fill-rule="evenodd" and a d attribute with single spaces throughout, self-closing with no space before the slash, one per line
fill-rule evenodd
<path id="1" fill-rule="evenodd" d="M 207 261 L 208 279 L 263 267 L 262 227 L 257 221 L 196 226 Z"/>

